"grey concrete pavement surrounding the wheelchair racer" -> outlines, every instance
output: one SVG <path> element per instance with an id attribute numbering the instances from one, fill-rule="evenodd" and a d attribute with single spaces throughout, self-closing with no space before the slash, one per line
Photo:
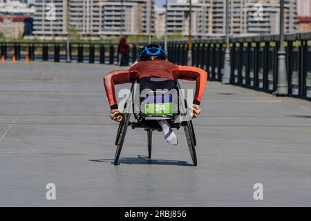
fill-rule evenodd
<path id="1" fill-rule="evenodd" d="M 154 133 L 147 160 L 142 129 L 129 129 L 113 166 L 102 77 L 118 68 L 0 66 L 0 206 L 311 206 L 311 102 L 209 82 L 194 120 L 198 166 L 183 130 L 178 146 Z"/>

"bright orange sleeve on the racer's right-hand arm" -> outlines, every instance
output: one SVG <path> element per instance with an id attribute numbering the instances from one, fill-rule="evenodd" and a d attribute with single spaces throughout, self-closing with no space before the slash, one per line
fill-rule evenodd
<path id="1" fill-rule="evenodd" d="M 196 81 L 194 104 L 200 105 L 202 95 L 207 83 L 207 72 L 201 68 L 191 66 L 178 66 L 178 79 Z"/>

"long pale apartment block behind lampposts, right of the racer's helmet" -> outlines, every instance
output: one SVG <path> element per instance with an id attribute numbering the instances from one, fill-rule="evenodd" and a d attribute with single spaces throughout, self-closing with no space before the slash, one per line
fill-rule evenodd
<path id="1" fill-rule="evenodd" d="M 226 30 L 225 4 L 225 0 L 193 1 L 192 34 L 196 37 L 224 36 Z M 189 1 L 178 0 L 177 3 L 169 3 L 168 6 L 169 35 L 176 31 L 181 32 L 182 35 L 188 35 Z M 256 12 L 261 9 L 261 18 L 255 18 Z M 279 33 L 279 15 L 279 0 L 231 0 L 229 1 L 230 35 Z M 296 17 L 296 0 L 285 0 L 285 32 L 296 31 Z"/>

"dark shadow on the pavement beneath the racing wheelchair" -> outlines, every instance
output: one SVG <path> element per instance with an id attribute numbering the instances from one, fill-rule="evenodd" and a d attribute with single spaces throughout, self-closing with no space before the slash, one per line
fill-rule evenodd
<path id="1" fill-rule="evenodd" d="M 113 159 L 89 160 L 89 161 L 113 164 Z M 141 155 L 138 155 L 138 157 L 120 157 L 119 164 L 157 164 L 157 165 L 173 165 L 173 166 L 194 166 L 193 164 L 189 164 L 187 161 L 148 159 L 146 156 Z"/>

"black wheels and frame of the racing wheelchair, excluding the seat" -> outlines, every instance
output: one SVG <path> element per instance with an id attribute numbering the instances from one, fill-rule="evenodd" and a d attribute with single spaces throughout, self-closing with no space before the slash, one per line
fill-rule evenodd
<path id="1" fill-rule="evenodd" d="M 134 106 L 133 106 L 133 99 L 135 97 L 135 93 L 137 93 L 137 90 L 135 90 L 135 85 L 138 85 L 138 81 L 135 81 L 132 84 L 131 87 L 131 95 L 133 96 L 129 96 L 129 98 L 126 100 L 126 104 L 124 105 L 124 111 L 123 111 L 123 117 L 122 117 L 122 121 L 119 124 L 119 127 L 117 129 L 117 137 L 115 139 L 115 145 L 117 146 L 117 149 L 115 151 L 115 159 L 114 159 L 114 164 L 118 165 L 118 161 L 119 161 L 119 157 L 120 157 L 120 153 L 122 151 L 122 146 L 124 143 L 124 139 L 126 136 L 126 131 L 128 126 L 131 126 L 132 129 L 135 128 L 144 128 L 145 131 L 147 131 L 147 142 L 148 142 L 148 158 L 151 159 L 151 152 L 152 152 L 152 134 L 153 131 L 158 131 L 157 128 L 151 128 L 151 127 L 147 127 L 147 126 L 142 126 L 141 124 L 138 124 L 138 122 L 130 122 L 129 119 L 131 117 L 131 108 L 133 108 L 134 110 Z M 177 82 L 177 86 L 178 86 L 178 90 L 180 90 L 180 84 L 179 82 Z M 194 133 L 194 125 L 192 124 L 192 121 L 188 115 L 188 108 L 187 108 L 187 101 L 186 99 L 183 97 L 182 93 L 178 93 L 178 100 L 184 100 L 185 101 L 185 106 L 183 105 L 178 105 L 178 110 L 180 110 L 179 108 L 183 108 L 182 113 L 180 113 L 180 111 L 178 111 L 178 115 L 175 117 L 175 119 L 172 119 L 172 128 L 177 128 L 179 129 L 181 126 L 184 127 L 185 130 L 185 135 L 186 135 L 186 140 L 187 140 L 187 144 L 189 147 L 189 151 L 190 151 L 190 155 L 191 155 L 191 159 L 192 162 L 194 163 L 194 166 L 196 166 L 198 164 L 197 162 L 197 158 L 196 158 L 196 135 Z M 134 112 L 134 116 L 135 119 L 138 120 L 138 117 L 135 115 Z M 176 123 L 176 119 L 180 116 L 181 122 Z M 160 119 L 161 117 L 159 117 L 158 119 Z M 148 120 L 148 119 L 144 119 L 144 120 Z"/>

